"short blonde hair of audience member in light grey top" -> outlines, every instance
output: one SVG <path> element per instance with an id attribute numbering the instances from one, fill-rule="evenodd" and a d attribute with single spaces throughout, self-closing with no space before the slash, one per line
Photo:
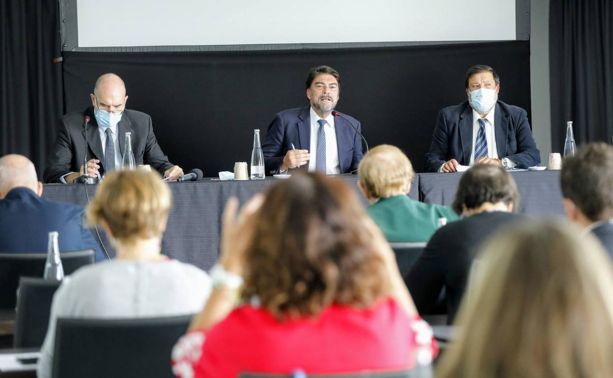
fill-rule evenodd
<path id="1" fill-rule="evenodd" d="M 120 170 L 105 175 L 87 216 L 118 243 L 129 245 L 161 238 L 170 203 L 170 189 L 158 172 Z"/>

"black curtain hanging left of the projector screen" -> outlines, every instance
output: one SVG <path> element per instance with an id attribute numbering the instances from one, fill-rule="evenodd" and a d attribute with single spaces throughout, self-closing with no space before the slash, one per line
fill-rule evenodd
<path id="1" fill-rule="evenodd" d="M 39 178 L 63 113 L 59 2 L 0 1 L 0 156 L 29 157 Z"/>

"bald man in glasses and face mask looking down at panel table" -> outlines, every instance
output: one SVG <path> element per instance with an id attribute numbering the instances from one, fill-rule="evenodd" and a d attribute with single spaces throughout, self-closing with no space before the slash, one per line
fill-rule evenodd
<path id="1" fill-rule="evenodd" d="M 115 74 L 104 74 L 96 80 L 90 94 L 92 106 L 82 112 L 63 116 L 55 146 L 43 174 L 45 183 L 72 183 L 83 175 L 85 160 L 84 119 L 87 116 L 87 175 L 100 178 L 123 165 L 125 133 L 131 132 L 132 152 L 136 164 L 149 164 L 169 180 L 183 175 L 178 165 L 172 165 L 162 153 L 153 134 L 151 117 L 126 109 L 126 86 Z"/>

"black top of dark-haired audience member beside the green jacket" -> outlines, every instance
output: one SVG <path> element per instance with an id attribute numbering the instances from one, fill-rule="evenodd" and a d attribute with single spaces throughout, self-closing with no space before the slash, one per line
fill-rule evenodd
<path id="1" fill-rule="evenodd" d="M 503 225 L 525 219 L 515 213 L 474 214 L 438 229 L 405 278 L 420 314 L 428 314 L 443 289 L 447 295 L 447 323 L 460 306 L 474 256 L 482 243 Z"/>

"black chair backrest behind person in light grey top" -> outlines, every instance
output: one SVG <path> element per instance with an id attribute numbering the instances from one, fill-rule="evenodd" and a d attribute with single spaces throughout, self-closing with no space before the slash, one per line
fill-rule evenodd
<path id="1" fill-rule="evenodd" d="M 58 319 L 51 376 L 175 378 L 170 353 L 191 319 Z"/>

